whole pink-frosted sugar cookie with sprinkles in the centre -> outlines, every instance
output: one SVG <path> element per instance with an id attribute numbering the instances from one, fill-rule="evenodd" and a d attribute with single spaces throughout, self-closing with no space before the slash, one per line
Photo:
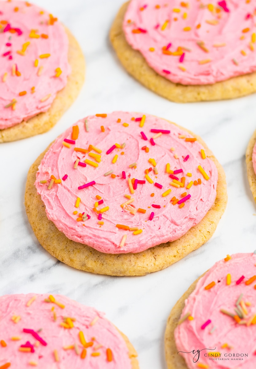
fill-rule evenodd
<path id="1" fill-rule="evenodd" d="M 143 275 L 204 244 L 227 201 L 203 141 L 142 113 L 96 114 L 32 165 L 25 206 L 39 242 L 78 269 Z"/>

